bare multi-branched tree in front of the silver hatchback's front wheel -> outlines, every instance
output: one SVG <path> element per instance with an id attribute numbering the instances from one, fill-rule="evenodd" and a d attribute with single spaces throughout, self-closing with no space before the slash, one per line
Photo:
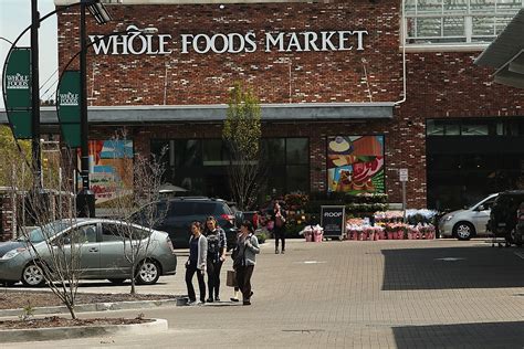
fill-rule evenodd
<path id="1" fill-rule="evenodd" d="M 72 163 L 73 154 L 63 152 L 59 166 Z M 64 163 L 65 162 L 65 163 Z M 17 253 L 29 253 L 32 262 L 22 272 L 22 282 L 33 286 L 46 283 L 49 288 L 67 307 L 71 317 L 75 315 L 75 298 L 78 281 L 82 276 L 82 253 L 86 242 L 86 232 L 76 228 L 73 180 L 61 180 L 54 188 L 35 191 L 28 186 L 32 179 L 31 171 L 24 171 L 24 165 L 13 161 L 14 172 L 24 176 L 12 176 L 10 186 L 13 193 L 19 193 L 19 241 L 24 247 Z M 63 168 L 67 168 L 63 166 Z M 31 222 L 32 226 L 27 226 Z M 59 234 L 70 229 L 64 234 Z"/>

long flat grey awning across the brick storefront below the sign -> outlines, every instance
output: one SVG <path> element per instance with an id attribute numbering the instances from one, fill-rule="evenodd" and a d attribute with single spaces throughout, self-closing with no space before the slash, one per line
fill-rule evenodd
<path id="1" fill-rule="evenodd" d="M 262 104 L 262 121 L 318 121 L 390 119 L 395 103 Z M 223 121 L 228 106 L 97 106 L 88 108 L 90 124 L 206 123 Z M 57 124 L 55 107 L 42 107 L 42 124 Z M 7 124 L 0 112 L 0 124 Z"/>

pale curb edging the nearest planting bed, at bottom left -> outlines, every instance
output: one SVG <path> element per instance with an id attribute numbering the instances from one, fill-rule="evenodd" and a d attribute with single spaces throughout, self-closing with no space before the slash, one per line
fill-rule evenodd
<path id="1" fill-rule="evenodd" d="M 35 329 L 8 329 L 0 330 L 0 342 L 34 341 L 70 339 L 80 337 L 96 337 L 107 335 L 126 334 L 157 334 L 168 329 L 167 320 L 153 319 L 151 322 L 133 325 L 106 325 L 106 326 L 78 326 Z"/>

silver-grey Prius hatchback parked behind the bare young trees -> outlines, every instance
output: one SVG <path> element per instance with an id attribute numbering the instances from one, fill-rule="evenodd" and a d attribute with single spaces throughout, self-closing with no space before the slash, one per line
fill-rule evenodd
<path id="1" fill-rule="evenodd" d="M 0 243 L 0 283 L 40 286 L 45 283 L 42 263 L 55 273 L 61 261 L 76 261 L 71 264 L 78 278 L 120 284 L 132 277 L 133 256 L 138 284 L 153 285 L 160 275 L 176 273 L 177 257 L 166 232 L 114 220 L 55 221 Z M 71 266 L 62 264 L 66 267 Z"/>

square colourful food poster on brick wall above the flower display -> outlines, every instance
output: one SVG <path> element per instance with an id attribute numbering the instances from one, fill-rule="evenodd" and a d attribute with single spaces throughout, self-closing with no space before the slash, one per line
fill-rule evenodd
<path id="1" fill-rule="evenodd" d="M 384 193 L 384 136 L 327 137 L 328 191 Z"/>

